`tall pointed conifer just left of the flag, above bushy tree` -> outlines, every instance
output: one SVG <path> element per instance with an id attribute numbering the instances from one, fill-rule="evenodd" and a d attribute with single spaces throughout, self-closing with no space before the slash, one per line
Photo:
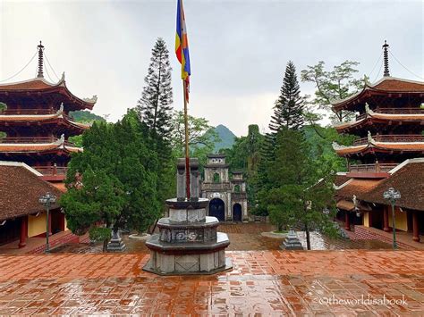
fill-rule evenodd
<path id="1" fill-rule="evenodd" d="M 148 75 L 144 79 L 141 98 L 137 104 L 140 120 L 146 123 L 153 136 L 162 140 L 171 137 L 173 115 L 173 88 L 171 86 L 171 65 L 165 41 L 157 38 L 152 49 Z"/>

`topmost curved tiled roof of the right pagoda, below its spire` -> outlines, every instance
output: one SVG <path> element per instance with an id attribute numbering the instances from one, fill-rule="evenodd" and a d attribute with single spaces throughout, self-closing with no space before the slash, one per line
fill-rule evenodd
<path id="1" fill-rule="evenodd" d="M 395 93 L 424 94 L 424 82 L 408 79 L 397 79 L 394 77 L 383 77 L 375 84 L 366 83 L 365 87 L 358 93 L 343 100 L 335 101 L 333 103 L 333 109 L 335 111 L 349 109 L 350 106 L 357 102 L 360 98 L 373 92 L 387 95 Z"/>

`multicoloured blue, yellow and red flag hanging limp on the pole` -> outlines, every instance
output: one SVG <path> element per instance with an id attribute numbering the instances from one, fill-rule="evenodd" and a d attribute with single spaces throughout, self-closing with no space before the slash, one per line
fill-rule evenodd
<path id="1" fill-rule="evenodd" d="M 177 23 L 176 23 L 176 36 L 175 36 L 175 54 L 178 61 L 181 63 L 181 78 L 185 81 L 186 91 L 185 98 L 189 101 L 189 88 L 190 88 L 190 54 L 189 42 L 187 40 L 187 29 L 185 27 L 184 10 L 182 8 L 182 0 L 178 0 L 177 4 Z"/>

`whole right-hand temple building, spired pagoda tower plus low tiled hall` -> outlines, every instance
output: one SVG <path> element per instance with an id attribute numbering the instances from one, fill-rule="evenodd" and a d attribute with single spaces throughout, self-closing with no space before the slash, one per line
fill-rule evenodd
<path id="1" fill-rule="evenodd" d="M 335 184 L 337 207 L 345 229 L 351 230 L 354 223 L 355 231 L 388 232 L 391 206 L 382 193 L 383 188 L 397 187 L 402 198 L 396 202 L 396 229 L 411 231 L 413 240 L 420 241 L 424 233 L 424 82 L 390 77 L 388 45 L 383 48 L 384 77 L 375 84 L 365 82 L 360 92 L 333 104 L 335 112 L 357 113 L 356 120 L 335 129 L 358 137 L 352 146 L 333 145 L 348 161 L 348 171 L 339 173 Z M 406 173 L 415 175 L 416 182 L 407 182 Z"/>

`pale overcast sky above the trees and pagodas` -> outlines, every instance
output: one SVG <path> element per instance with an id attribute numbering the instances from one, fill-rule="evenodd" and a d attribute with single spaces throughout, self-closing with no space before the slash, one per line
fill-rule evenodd
<path id="1" fill-rule="evenodd" d="M 298 73 L 360 62 L 369 75 L 387 39 L 394 56 L 424 77 L 421 1 L 185 0 L 191 54 L 189 112 L 224 124 L 237 136 L 251 123 L 267 129 L 285 65 Z M 174 108 L 182 109 L 180 66 L 174 55 L 173 1 L 0 0 L 0 80 L 28 63 L 41 39 L 48 60 L 76 96 L 98 95 L 94 113 L 120 119 L 140 98 L 151 48 L 164 38 L 173 66 Z M 10 81 L 35 77 L 36 60 Z M 370 76 L 377 77 L 380 63 Z M 392 76 L 420 80 L 393 58 Z M 50 71 L 51 72 L 51 71 Z M 50 73 L 52 79 L 55 75 Z M 48 80 L 47 74 L 45 77 Z M 55 79 L 56 81 L 56 79 Z M 302 93 L 312 93 L 301 83 Z"/>

